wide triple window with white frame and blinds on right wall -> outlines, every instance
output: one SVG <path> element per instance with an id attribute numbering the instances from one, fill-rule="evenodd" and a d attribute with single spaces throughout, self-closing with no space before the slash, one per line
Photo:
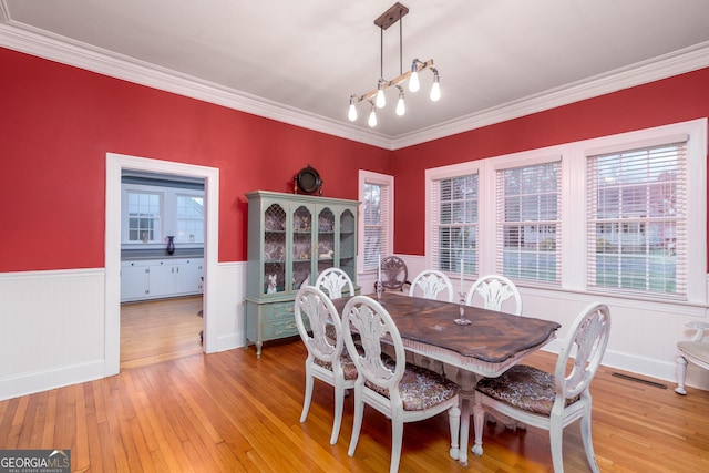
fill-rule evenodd
<path id="1" fill-rule="evenodd" d="M 707 119 L 427 169 L 425 264 L 703 307 Z"/>

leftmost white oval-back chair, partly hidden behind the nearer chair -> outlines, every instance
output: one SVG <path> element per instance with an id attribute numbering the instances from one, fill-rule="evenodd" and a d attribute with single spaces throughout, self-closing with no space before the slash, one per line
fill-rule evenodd
<path id="1" fill-rule="evenodd" d="M 295 300 L 298 333 L 308 350 L 306 358 L 306 392 L 300 422 L 305 422 L 310 410 L 315 379 L 335 388 L 335 419 L 330 444 L 335 445 L 342 424 L 345 391 L 354 387 L 357 368 L 342 341 L 340 317 L 330 298 L 315 286 L 304 286 Z M 326 335 L 326 328 L 335 328 L 335 345 Z M 356 351 L 353 351 L 356 352 Z"/>

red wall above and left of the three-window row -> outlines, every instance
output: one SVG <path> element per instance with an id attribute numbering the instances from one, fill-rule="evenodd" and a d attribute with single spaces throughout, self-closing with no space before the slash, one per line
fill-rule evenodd
<path id="1" fill-rule="evenodd" d="M 705 116 L 709 69 L 394 151 L 394 251 L 424 254 L 427 168 Z"/>

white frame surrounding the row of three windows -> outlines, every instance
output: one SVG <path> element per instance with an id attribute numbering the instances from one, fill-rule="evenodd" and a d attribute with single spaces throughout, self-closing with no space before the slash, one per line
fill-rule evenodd
<path id="1" fill-rule="evenodd" d="M 621 291 L 597 290 L 587 285 L 587 176 L 588 156 L 641 147 L 653 143 L 669 143 L 677 135 L 689 137 L 687 142 L 687 249 L 690 251 L 687 267 L 687 294 L 681 300 L 676 296 L 667 297 L 643 292 L 629 295 Z M 514 154 L 486 157 L 477 161 L 425 169 L 427 222 L 431 222 L 431 184 L 433 179 L 459 175 L 479 174 L 479 261 L 480 275 L 500 273 L 495 261 L 497 245 L 496 229 L 496 186 L 495 173 L 510 167 L 528 166 L 535 163 L 561 158 L 561 282 L 555 291 L 594 294 L 625 300 L 647 300 L 680 304 L 687 306 L 707 305 L 707 119 L 692 120 L 650 127 L 634 132 L 565 143 L 544 148 L 530 150 Z M 494 205 L 483 205 L 494 203 Z M 425 229 L 425 264 L 431 264 L 431 235 L 433 226 Z M 549 289 L 548 282 L 527 279 L 514 279 L 528 290 Z"/>

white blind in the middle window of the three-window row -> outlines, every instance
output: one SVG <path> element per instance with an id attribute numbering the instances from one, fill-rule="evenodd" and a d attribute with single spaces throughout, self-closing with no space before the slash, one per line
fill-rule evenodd
<path id="1" fill-rule="evenodd" d="M 561 281 L 561 174 L 558 162 L 496 172 L 499 273 Z"/>

